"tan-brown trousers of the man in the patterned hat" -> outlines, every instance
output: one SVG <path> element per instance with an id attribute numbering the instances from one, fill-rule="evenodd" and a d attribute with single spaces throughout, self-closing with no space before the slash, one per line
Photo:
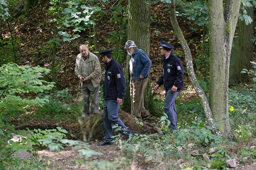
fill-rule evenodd
<path id="1" fill-rule="evenodd" d="M 130 80 L 130 97 L 131 97 L 131 115 L 138 119 L 149 116 L 148 110 L 144 107 L 144 91 L 148 83 L 148 78 L 139 81 Z"/>

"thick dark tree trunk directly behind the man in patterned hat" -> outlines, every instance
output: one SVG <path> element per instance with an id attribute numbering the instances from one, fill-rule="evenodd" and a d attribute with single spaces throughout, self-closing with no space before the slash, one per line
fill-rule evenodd
<path id="1" fill-rule="evenodd" d="M 128 39 L 133 40 L 139 49 L 143 49 L 149 55 L 150 37 L 150 1 L 130 0 L 128 2 Z M 131 110 L 130 83 L 128 81 L 130 57 L 126 58 L 126 95 L 123 109 L 126 112 Z M 150 79 L 144 92 L 144 105 L 152 115 L 156 115 L 153 96 L 150 91 Z"/>

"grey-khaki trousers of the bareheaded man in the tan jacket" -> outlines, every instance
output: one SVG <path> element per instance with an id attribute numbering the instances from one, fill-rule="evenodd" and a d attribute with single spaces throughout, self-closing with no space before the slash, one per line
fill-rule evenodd
<path id="1" fill-rule="evenodd" d="M 100 91 L 100 85 L 94 87 L 91 82 L 83 82 L 82 95 L 83 95 L 83 113 L 82 117 L 87 118 L 89 116 L 90 96 L 91 96 L 91 113 L 96 114 L 98 111 L 98 92 Z"/>

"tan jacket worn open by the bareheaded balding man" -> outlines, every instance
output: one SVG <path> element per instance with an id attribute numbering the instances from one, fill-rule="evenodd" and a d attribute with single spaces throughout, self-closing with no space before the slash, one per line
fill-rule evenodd
<path id="1" fill-rule="evenodd" d="M 75 62 L 75 75 L 79 78 L 82 76 L 82 62 L 83 58 L 81 54 L 77 55 L 77 60 Z M 89 70 L 89 79 L 91 80 L 91 83 L 94 87 L 97 87 L 100 85 L 101 82 L 101 64 L 100 61 L 98 61 L 98 57 L 91 52 L 89 52 L 89 57 L 88 57 L 88 69 Z M 80 81 L 81 86 L 83 86 L 83 81 Z"/>

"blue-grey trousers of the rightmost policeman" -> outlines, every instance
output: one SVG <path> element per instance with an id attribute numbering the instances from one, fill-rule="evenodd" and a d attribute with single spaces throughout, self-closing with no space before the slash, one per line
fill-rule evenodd
<path id="1" fill-rule="evenodd" d="M 178 130 L 177 127 L 177 113 L 176 113 L 176 107 L 175 107 L 175 100 L 178 95 L 178 91 L 173 92 L 171 89 L 168 89 L 165 91 L 165 104 L 164 104 L 164 110 L 165 114 L 168 116 L 168 120 L 170 120 L 171 124 L 169 125 L 169 128 L 171 130 Z"/>

